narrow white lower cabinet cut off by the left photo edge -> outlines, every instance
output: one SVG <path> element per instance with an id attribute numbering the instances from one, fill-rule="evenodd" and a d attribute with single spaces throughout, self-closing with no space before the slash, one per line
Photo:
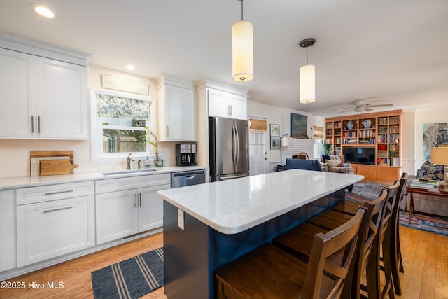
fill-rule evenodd
<path id="1" fill-rule="evenodd" d="M 15 260 L 14 190 L 2 190 L 0 191 L 0 272 L 13 269 Z"/>

